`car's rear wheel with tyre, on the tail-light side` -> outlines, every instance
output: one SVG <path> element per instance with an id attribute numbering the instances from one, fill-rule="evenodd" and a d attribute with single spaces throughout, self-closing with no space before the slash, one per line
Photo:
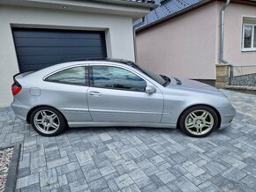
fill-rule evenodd
<path id="1" fill-rule="evenodd" d="M 31 116 L 34 130 L 41 136 L 54 137 L 64 132 L 67 126 L 64 115 L 53 107 L 38 107 Z"/>

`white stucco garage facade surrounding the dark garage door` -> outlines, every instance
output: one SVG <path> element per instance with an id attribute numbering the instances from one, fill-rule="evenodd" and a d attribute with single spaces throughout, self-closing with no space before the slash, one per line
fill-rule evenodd
<path id="1" fill-rule="evenodd" d="M 129 14 L 135 11 L 141 16 L 149 11 L 136 9 L 128 7 L 125 15 L 125 10 L 122 14 L 109 14 L 106 10 L 87 12 L 0 4 L 0 107 L 10 106 L 12 76 L 19 73 L 11 27 L 104 31 L 108 57 L 134 61 L 133 18 Z"/>

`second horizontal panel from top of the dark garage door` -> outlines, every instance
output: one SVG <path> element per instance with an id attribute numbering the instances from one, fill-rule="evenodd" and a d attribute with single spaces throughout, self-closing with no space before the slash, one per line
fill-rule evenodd
<path id="1" fill-rule="evenodd" d="M 17 38 L 16 47 L 102 47 L 102 40 L 94 39 L 51 39 Z"/>

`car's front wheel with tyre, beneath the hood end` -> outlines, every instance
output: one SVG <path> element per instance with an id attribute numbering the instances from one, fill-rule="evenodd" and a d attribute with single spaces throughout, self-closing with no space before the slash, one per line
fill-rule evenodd
<path id="1" fill-rule="evenodd" d="M 218 125 L 218 115 L 207 106 L 190 107 L 179 118 L 180 129 L 190 137 L 207 137 Z"/>

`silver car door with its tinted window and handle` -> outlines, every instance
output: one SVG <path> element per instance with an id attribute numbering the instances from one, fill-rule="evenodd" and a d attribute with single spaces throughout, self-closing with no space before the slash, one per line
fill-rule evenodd
<path id="1" fill-rule="evenodd" d="M 153 85 L 134 71 L 119 66 L 91 65 L 87 92 L 89 112 L 95 122 L 161 122 L 162 92 L 147 94 Z"/>

